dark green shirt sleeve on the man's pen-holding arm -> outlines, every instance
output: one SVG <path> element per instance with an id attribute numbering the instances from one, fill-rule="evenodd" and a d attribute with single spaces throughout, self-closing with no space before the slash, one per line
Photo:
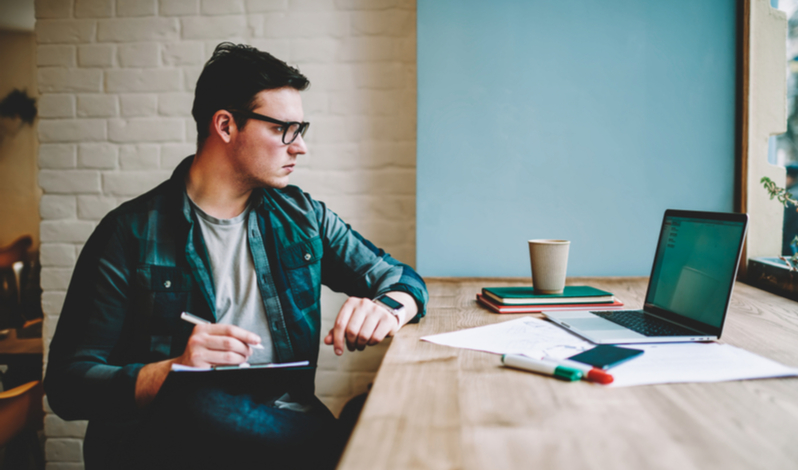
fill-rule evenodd
<path id="1" fill-rule="evenodd" d="M 70 281 L 44 380 L 48 403 L 63 419 L 119 419 L 138 411 L 136 378 L 144 364 L 126 363 L 121 352 L 131 320 L 124 233 L 113 216 L 103 219 Z"/>

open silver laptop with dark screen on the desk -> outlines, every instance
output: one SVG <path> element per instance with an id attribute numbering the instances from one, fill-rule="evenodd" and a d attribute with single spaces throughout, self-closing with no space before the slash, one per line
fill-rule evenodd
<path id="1" fill-rule="evenodd" d="M 747 221 L 747 214 L 667 210 L 644 308 L 544 315 L 595 344 L 719 339 Z"/>

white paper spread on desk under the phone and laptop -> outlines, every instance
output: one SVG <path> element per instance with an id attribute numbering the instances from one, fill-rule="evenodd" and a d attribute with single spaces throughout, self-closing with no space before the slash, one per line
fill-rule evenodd
<path id="1" fill-rule="evenodd" d="M 495 354 L 524 354 L 563 359 L 595 345 L 538 318 L 525 317 L 495 325 L 425 336 L 424 341 Z M 796 377 L 797 369 L 720 343 L 632 344 L 644 354 L 608 372 L 609 387 L 676 382 Z"/>

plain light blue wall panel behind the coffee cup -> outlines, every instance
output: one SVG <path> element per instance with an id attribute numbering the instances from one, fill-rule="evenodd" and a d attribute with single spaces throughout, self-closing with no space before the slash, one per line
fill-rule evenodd
<path id="1" fill-rule="evenodd" d="M 649 275 L 665 209 L 733 210 L 735 1 L 417 8 L 421 274 Z"/>

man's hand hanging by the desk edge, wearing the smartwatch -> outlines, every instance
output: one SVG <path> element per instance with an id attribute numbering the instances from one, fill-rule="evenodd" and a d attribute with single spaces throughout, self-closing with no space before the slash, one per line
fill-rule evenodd
<path id="1" fill-rule="evenodd" d="M 404 318 L 398 319 L 370 299 L 350 297 L 339 310 L 333 329 L 325 337 L 325 344 L 332 344 L 333 351 L 341 356 L 345 344 L 349 351 L 363 351 L 367 346 L 393 336 L 416 315 L 417 306 L 414 298 L 404 292 L 392 292 L 391 297 L 405 306 Z"/>

